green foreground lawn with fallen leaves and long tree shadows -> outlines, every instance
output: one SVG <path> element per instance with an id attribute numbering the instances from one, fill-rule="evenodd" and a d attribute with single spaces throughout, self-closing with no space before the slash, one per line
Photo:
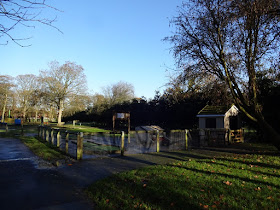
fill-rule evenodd
<path id="1" fill-rule="evenodd" d="M 87 193 L 97 209 L 280 208 L 280 157 L 272 146 L 191 150 L 180 159 L 105 178 Z"/>

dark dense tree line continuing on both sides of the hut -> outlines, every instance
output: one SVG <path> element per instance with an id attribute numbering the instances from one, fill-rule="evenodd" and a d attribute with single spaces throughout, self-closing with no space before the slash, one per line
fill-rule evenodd
<path id="1" fill-rule="evenodd" d="M 280 132 L 280 84 L 278 77 L 269 72 L 257 74 L 259 101 L 266 120 Z M 111 86 L 112 87 L 112 86 Z M 111 90 L 112 91 L 112 90 Z M 113 92 L 113 91 L 112 91 Z M 92 107 L 67 116 L 64 121 L 80 120 L 95 126 L 112 128 L 114 111 L 130 112 L 132 128 L 141 125 L 159 125 L 165 129 L 197 128 L 197 113 L 206 105 L 230 106 L 234 103 L 230 90 L 217 80 L 209 83 L 182 83 L 180 76 L 170 78 L 163 93 L 153 99 L 130 98 L 113 104 L 105 96 L 93 96 Z M 243 116 L 243 125 L 259 129 L 256 123 Z M 123 123 L 123 122 L 122 122 Z M 124 122 L 125 123 L 125 122 Z"/>

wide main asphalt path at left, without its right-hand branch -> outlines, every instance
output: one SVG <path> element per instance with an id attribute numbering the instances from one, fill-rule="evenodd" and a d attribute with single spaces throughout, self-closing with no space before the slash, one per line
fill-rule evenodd
<path id="1" fill-rule="evenodd" d="M 20 140 L 0 138 L 0 209 L 93 209 L 82 189 Z"/>

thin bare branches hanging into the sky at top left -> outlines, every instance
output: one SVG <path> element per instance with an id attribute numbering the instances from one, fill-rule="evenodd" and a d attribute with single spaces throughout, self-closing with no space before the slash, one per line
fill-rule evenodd
<path id="1" fill-rule="evenodd" d="M 46 3 L 46 0 L 1 0 L 0 1 L 0 38 L 6 39 L 2 44 L 8 44 L 8 40 L 12 40 L 19 46 L 23 45 L 22 41 L 30 39 L 30 37 L 17 37 L 13 31 L 20 27 L 35 28 L 36 24 L 43 24 L 57 27 L 53 25 L 56 17 L 46 18 L 43 11 L 57 10 Z M 60 31 L 60 30 L 59 30 Z"/>

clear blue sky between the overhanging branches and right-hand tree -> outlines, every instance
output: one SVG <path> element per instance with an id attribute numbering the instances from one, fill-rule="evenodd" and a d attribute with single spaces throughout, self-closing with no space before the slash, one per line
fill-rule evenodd
<path id="1" fill-rule="evenodd" d="M 152 98 L 168 82 L 174 68 L 169 20 L 182 0 L 49 0 L 63 12 L 48 10 L 62 32 L 47 26 L 18 28 L 14 35 L 30 37 L 21 48 L 9 42 L 0 46 L 0 74 L 39 74 L 48 62 L 73 61 L 82 65 L 90 93 L 119 81 L 135 87 L 137 97 Z M 79 4 L 77 4 L 79 2 Z"/>

